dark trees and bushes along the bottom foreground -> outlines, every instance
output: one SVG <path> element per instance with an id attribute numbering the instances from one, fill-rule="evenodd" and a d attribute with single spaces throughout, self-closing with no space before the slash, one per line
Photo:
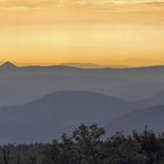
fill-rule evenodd
<path id="1" fill-rule="evenodd" d="M 0 164 L 164 164 L 164 133 L 145 129 L 105 137 L 98 125 L 80 125 L 51 144 L 0 147 Z"/>

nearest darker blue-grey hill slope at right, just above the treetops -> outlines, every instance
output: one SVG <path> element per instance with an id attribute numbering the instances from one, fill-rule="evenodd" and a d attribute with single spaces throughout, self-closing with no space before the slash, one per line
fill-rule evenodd
<path id="1" fill-rule="evenodd" d="M 133 130 L 143 131 L 145 126 L 155 132 L 164 132 L 164 105 L 145 107 L 119 116 L 106 125 L 106 130 L 107 133 L 131 133 Z"/>

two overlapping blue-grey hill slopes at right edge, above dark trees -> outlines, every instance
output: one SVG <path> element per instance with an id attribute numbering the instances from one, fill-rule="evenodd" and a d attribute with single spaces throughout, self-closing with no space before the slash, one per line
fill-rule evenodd
<path id="1" fill-rule="evenodd" d="M 105 126 L 109 133 L 131 133 L 133 130 L 142 131 L 145 126 L 155 132 L 164 132 L 164 91 L 150 99 L 133 102 L 127 107 L 133 110 L 113 119 Z"/>

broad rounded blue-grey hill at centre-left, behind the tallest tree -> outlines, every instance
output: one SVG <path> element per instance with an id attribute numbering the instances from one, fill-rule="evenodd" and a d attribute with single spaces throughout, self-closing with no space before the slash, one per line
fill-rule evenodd
<path id="1" fill-rule="evenodd" d="M 50 142 L 80 123 L 116 116 L 126 102 L 100 93 L 60 91 L 18 106 L 0 109 L 0 142 Z"/>

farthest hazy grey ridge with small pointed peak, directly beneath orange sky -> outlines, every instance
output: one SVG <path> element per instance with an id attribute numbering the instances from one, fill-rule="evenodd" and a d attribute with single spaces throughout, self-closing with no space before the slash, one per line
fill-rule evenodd
<path id="1" fill-rule="evenodd" d="M 0 66 L 0 106 L 31 102 L 61 90 L 90 91 L 126 101 L 164 90 L 164 68 L 80 69 L 65 65 Z"/>

